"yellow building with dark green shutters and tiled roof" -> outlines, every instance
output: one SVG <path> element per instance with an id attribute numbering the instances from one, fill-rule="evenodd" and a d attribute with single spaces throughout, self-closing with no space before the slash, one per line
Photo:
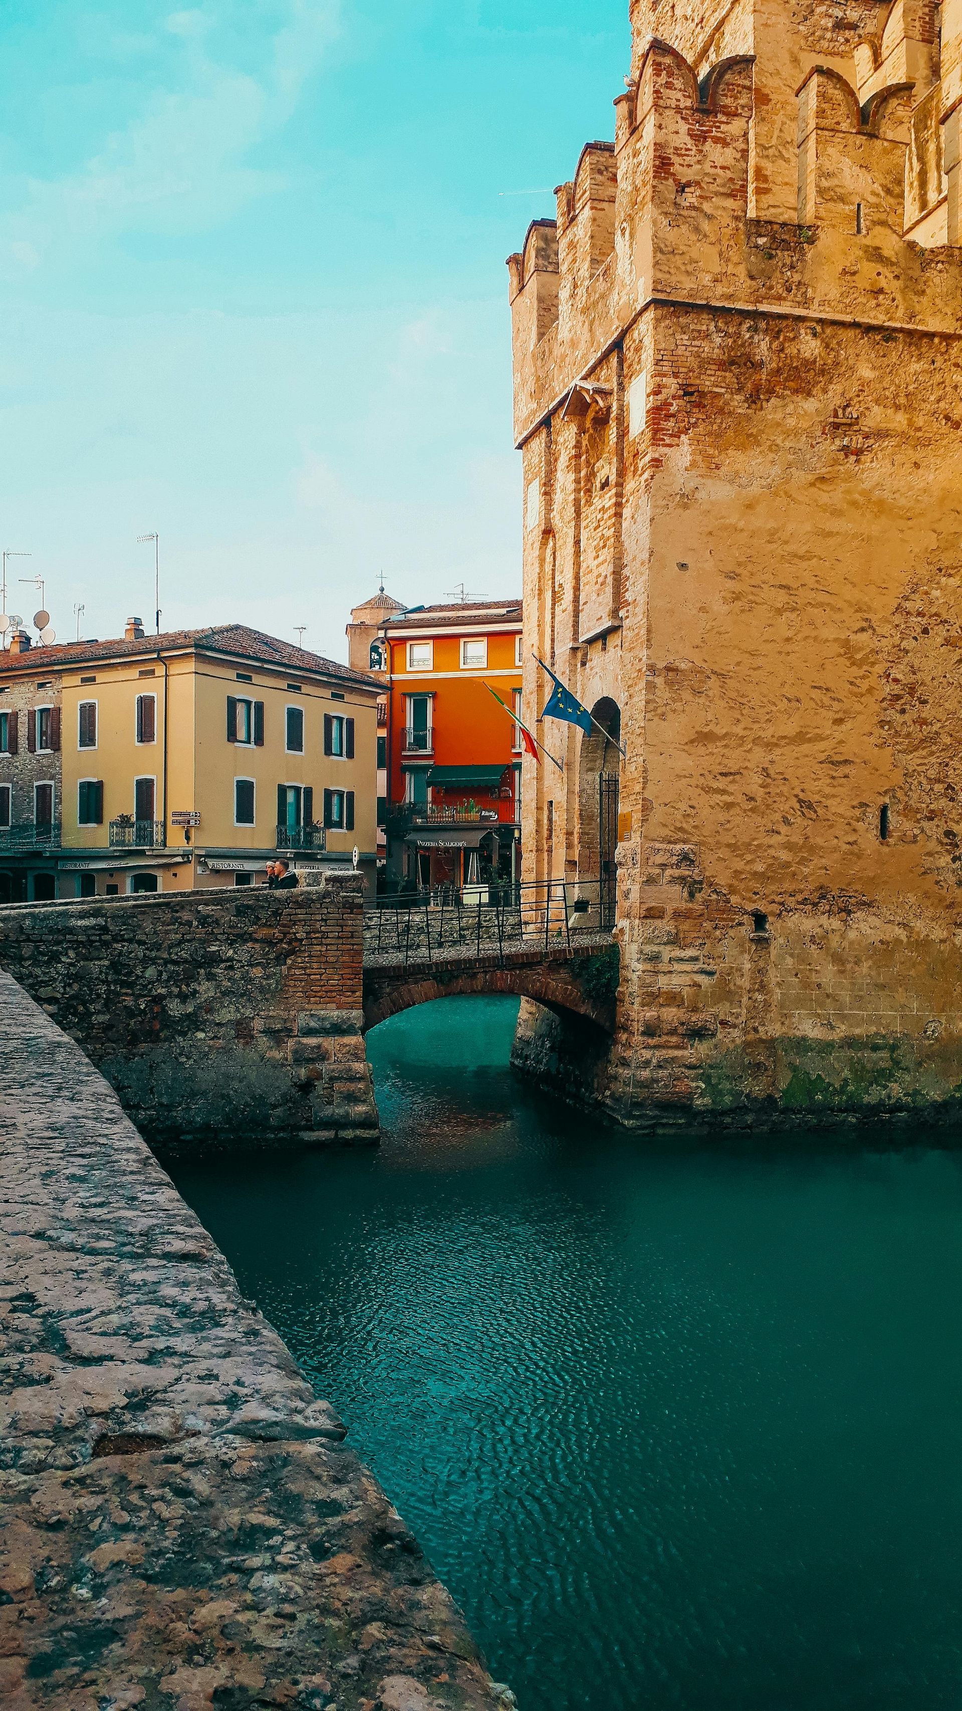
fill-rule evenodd
<path id="1" fill-rule="evenodd" d="M 39 666 L 39 648 L 5 654 L 0 679 L 29 686 Z M 138 619 L 123 640 L 43 648 L 43 676 L 60 897 L 256 885 L 277 856 L 343 866 L 355 849 L 372 883 L 372 678 L 244 625 L 150 636 Z"/>

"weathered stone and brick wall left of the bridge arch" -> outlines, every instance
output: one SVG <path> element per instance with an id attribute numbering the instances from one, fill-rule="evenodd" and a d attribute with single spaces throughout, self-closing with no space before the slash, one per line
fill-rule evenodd
<path id="1" fill-rule="evenodd" d="M 362 881 L 0 909 L 0 967 L 164 1146 L 366 1143 Z"/>

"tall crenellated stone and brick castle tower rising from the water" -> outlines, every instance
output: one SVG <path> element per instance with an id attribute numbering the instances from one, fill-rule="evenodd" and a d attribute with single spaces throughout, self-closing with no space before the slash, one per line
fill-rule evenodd
<path id="1" fill-rule="evenodd" d="M 632 33 L 613 144 L 507 263 L 526 717 L 533 645 L 608 732 L 545 722 L 526 878 L 605 895 L 617 842 L 620 941 L 613 1045 L 530 1013 L 518 1052 L 627 1122 L 948 1110 L 962 0 Z"/>

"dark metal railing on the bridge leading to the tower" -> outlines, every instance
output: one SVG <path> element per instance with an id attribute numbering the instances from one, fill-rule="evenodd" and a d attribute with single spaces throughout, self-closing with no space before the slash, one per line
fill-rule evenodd
<path id="1" fill-rule="evenodd" d="M 379 897 L 364 909 L 364 955 L 395 963 L 542 948 L 574 955 L 610 934 L 615 897 L 601 879 L 478 881 Z"/>

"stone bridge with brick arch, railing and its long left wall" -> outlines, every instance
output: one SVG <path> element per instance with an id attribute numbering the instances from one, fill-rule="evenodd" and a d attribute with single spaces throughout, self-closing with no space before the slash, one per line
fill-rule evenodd
<path id="1" fill-rule="evenodd" d="M 460 924 L 455 941 L 451 912 L 429 910 L 414 931 L 407 922 L 403 944 L 395 921 L 391 943 L 359 878 L 318 879 L 9 905 L 0 967 L 159 1148 L 374 1143 L 364 1033 L 432 998 L 513 992 L 571 1018 L 586 1049 L 610 1044 L 610 934 L 548 922 L 531 938 L 485 912 L 484 932 L 465 941 Z"/>

